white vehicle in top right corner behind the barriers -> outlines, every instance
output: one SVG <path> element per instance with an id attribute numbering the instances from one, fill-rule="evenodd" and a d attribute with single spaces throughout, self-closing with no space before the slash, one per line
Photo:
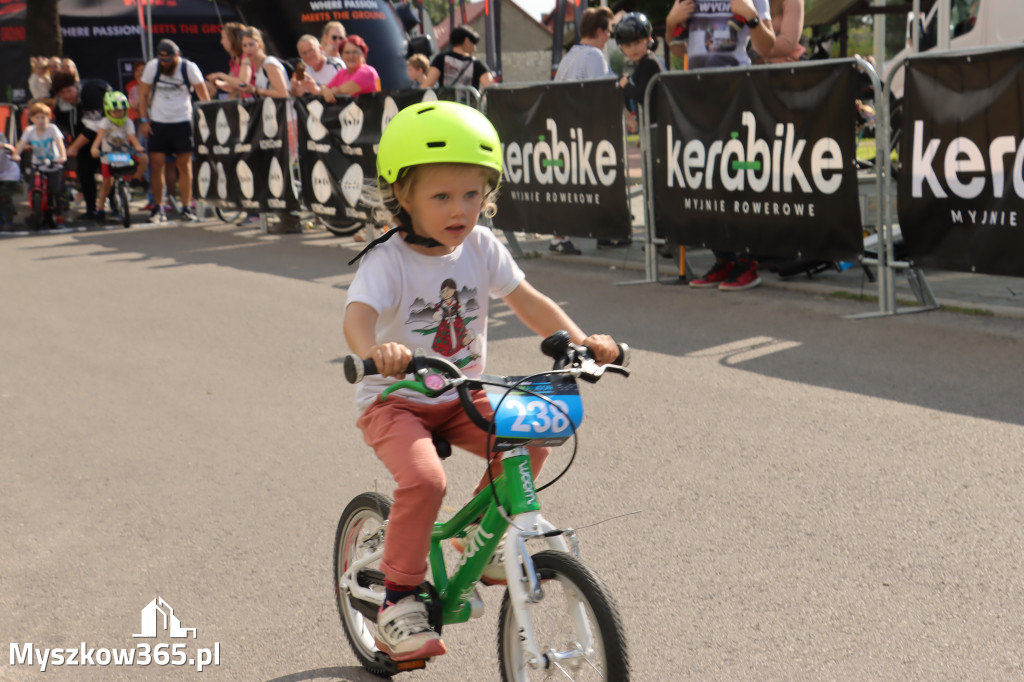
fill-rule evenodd
<path id="1" fill-rule="evenodd" d="M 949 4 L 948 41 L 940 41 L 938 34 L 939 6 Z M 1021 0 L 938 0 L 921 26 L 921 51 L 934 50 L 940 42 L 948 42 L 951 50 L 972 47 L 992 47 L 1024 43 L 1024 7 Z M 910 22 L 907 17 L 907 44 L 910 43 Z M 907 47 L 886 65 L 889 77 L 892 66 L 912 52 Z M 902 69 L 893 80 L 893 94 L 903 96 Z"/>

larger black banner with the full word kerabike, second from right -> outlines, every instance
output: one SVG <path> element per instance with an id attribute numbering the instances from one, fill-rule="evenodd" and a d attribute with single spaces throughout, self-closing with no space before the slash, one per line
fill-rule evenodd
<path id="1" fill-rule="evenodd" d="M 658 76 L 657 233 L 757 256 L 859 255 L 854 65 Z"/>

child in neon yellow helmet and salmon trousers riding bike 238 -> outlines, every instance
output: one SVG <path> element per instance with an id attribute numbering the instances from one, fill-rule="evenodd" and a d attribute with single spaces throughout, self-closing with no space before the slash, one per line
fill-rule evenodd
<path id="1" fill-rule="evenodd" d="M 356 257 L 365 256 L 348 290 L 345 339 L 380 372 L 356 388 L 362 410 L 356 425 L 397 484 L 381 562 L 386 595 L 377 621 L 377 646 L 395 660 L 445 651 L 416 594 L 427 573 L 430 534 L 445 491 L 432 438 L 478 457 L 488 453 L 484 434 L 455 395 L 427 398 L 402 389 L 379 400 L 391 383 L 387 378 L 404 376 L 411 349 L 421 346 L 466 375 L 480 376 L 490 298 L 504 300 L 540 336 L 564 329 L 600 363 L 618 355 L 611 337 L 584 334 L 525 281 L 493 232 L 476 224 L 481 209 L 495 210 L 501 150 L 494 126 L 469 106 L 430 101 L 399 112 L 385 129 L 377 156 L 381 200 L 394 228 Z M 484 416 L 493 414 L 482 392 L 474 402 Z M 548 452 L 530 449 L 535 472 Z M 477 491 L 487 480 L 484 473 Z"/>

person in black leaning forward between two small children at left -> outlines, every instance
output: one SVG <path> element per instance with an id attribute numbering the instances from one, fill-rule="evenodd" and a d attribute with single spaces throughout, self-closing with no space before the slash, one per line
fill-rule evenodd
<path id="1" fill-rule="evenodd" d="M 98 78 L 79 82 L 78 77 L 69 71 L 57 72 L 53 77 L 54 118 L 57 126 L 72 140 L 67 153 L 69 158 L 75 158 L 75 172 L 85 200 L 85 213 L 79 218 L 85 220 L 96 219 L 94 207 L 99 163 L 92 158 L 90 148 L 103 119 L 103 95 L 111 89 L 106 81 Z"/>

